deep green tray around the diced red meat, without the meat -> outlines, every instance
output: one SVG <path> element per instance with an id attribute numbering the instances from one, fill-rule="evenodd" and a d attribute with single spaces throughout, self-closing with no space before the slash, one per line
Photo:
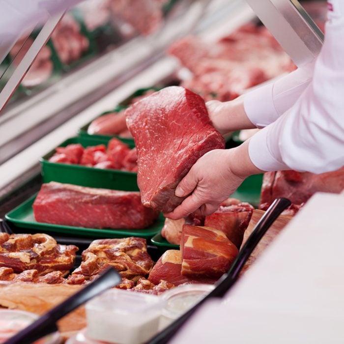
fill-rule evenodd
<path id="1" fill-rule="evenodd" d="M 110 139 L 74 137 L 59 144 L 65 147 L 71 143 L 80 143 L 87 147 L 97 144 L 107 144 Z M 40 158 L 43 183 L 57 181 L 74 185 L 88 186 L 93 188 L 104 188 L 124 191 L 139 191 L 137 185 L 137 173 L 110 169 L 96 169 L 73 164 L 60 164 L 49 162 L 48 159 L 54 154 L 55 149 Z"/>

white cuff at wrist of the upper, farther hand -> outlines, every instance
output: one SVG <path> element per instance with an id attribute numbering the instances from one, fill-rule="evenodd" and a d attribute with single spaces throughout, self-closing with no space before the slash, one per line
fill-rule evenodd
<path id="1" fill-rule="evenodd" d="M 258 128 L 266 127 L 278 116 L 272 97 L 273 85 L 269 83 L 244 94 L 246 115 Z"/>

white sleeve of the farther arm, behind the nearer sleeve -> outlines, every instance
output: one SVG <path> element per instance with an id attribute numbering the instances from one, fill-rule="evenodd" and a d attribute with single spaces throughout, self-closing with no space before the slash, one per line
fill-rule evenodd
<path id="1" fill-rule="evenodd" d="M 244 95 L 250 121 L 263 128 L 284 114 L 312 81 L 315 60 Z"/>

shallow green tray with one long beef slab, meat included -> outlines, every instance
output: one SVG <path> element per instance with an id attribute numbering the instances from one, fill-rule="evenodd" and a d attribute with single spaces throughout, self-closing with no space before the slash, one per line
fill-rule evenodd
<path id="1" fill-rule="evenodd" d="M 151 238 L 164 218 L 144 207 L 137 191 L 119 191 L 50 182 L 5 215 L 21 229 L 73 237 Z"/>

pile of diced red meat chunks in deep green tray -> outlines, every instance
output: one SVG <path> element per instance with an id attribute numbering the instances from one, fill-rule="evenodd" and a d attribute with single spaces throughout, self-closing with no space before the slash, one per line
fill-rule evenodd
<path id="1" fill-rule="evenodd" d="M 136 148 L 130 149 L 127 144 L 112 139 L 108 147 L 104 144 L 84 148 L 81 144 L 68 144 L 57 147 L 50 162 L 63 164 L 78 164 L 97 169 L 115 169 L 137 172 Z"/>

